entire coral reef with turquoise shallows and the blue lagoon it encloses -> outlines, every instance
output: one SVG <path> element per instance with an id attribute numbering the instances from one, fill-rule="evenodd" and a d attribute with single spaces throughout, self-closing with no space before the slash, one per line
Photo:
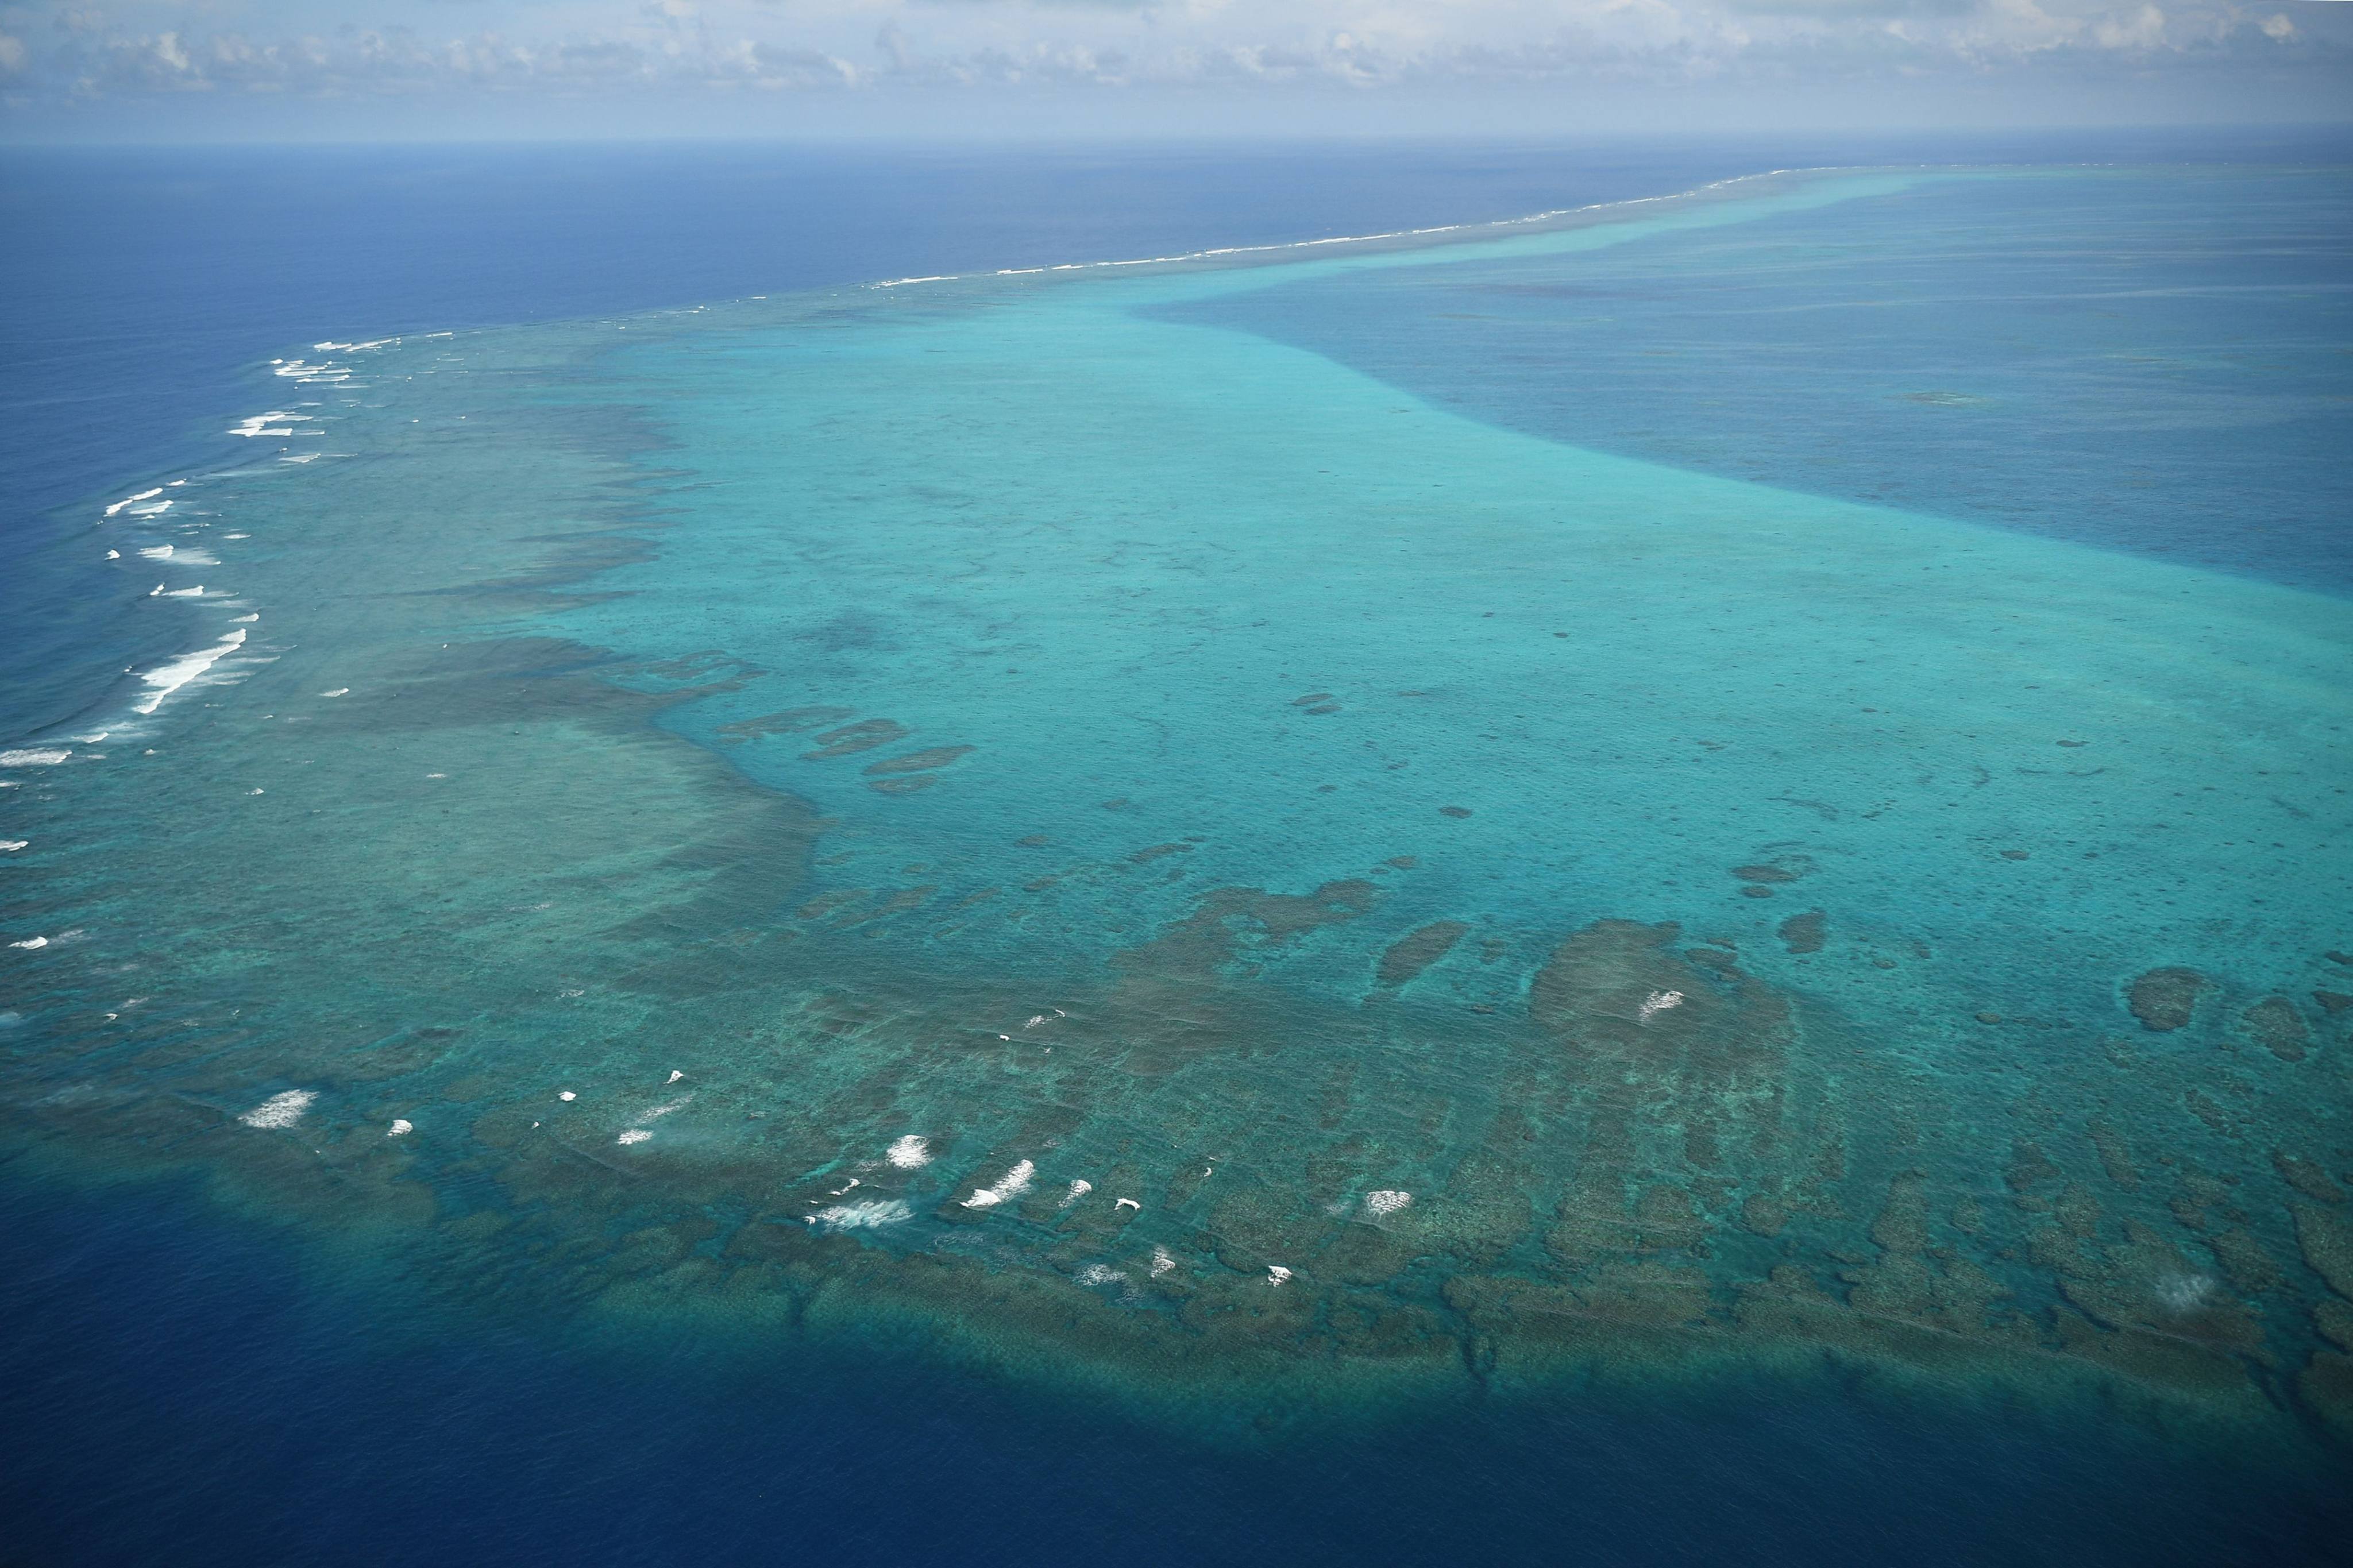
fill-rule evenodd
<path id="1" fill-rule="evenodd" d="M 1209 1427 L 1833 1368 L 2341 1462 L 2353 616 L 2160 522 L 2344 524 L 2344 197 L 1784 174 L 287 355 L 94 508 L 198 630 L 7 757 L 9 1135 Z M 2137 249 L 2217 200 L 2322 282 Z M 2162 353 L 1833 315 L 2101 214 Z"/>

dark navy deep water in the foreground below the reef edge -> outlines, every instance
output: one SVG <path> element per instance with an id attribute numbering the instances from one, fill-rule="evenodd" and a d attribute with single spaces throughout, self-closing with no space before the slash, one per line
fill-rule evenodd
<path id="1" fill-rule="evenodd" d="M 1762 1380 L 1207 1448 L 885 1356 L 598 1356 L 158 1190 L 16 1192 L 0 1260 L 19 1563 L 2327 1563 L 2346 1519 L 2129 1427 Z"/>

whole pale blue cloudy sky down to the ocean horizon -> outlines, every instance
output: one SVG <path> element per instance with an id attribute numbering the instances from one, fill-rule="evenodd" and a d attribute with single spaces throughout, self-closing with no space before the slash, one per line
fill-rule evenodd
<path id="1" fill-rule="evenodd" d="M 0 0 L 0 141 L 2353 120 L 2344 0 Z"/>

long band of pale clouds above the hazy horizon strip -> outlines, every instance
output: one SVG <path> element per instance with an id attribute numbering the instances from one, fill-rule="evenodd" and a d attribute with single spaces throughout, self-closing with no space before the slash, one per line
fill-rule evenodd
<path id="1" fill-rule="evenodd" d="M 1473 92 L 2249 61 L 2341 78 L 2353 42 L 2353 7 L 2235 0 L 111 0 L 49 7 L 47 31 L 26 14 L 0 12 L 19 115 L 188 94 Z"/>

